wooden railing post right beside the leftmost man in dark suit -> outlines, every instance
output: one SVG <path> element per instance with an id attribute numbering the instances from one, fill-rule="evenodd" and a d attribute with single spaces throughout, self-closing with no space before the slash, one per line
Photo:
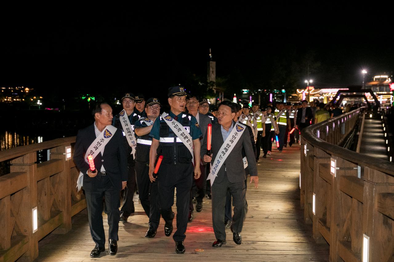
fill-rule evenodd
<path id="1" fill-rule="evenodd" d="M 57 188 L 60 211 L 63 212 L 63 223 L 54 233 L 65 234 L 71 229 L 71 173 L 70 162 L 66 161 L 67 145 L 50 149 L 50 159 L 61 159 L 63 161 L 63 171 L 59 175 L 59 186 Z"/>

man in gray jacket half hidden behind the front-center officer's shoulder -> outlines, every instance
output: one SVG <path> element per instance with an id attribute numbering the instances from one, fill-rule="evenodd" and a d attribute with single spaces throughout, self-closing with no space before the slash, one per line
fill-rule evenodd
<path id="1" fill-rule="evenodd" d="M 197 122 L 200 125 L 200 130 L 201 133 L 203 133 L 203 136 L 201 137 L 201 140 L 204 141 L 204 138 L 206 136 L 206 131 L 208 128 L 208 124 L 212 124 L 211 118 L 209 116 L 206 116 L 205 114 L 201 114 L 198 111 L 199 108 L 199 100 L 196 96 L 188 96 L 186 98 L 186 107 L 189 111 L 189 114 L 192 114 L 195 116 L 197 119 Z M 206 146 L 205 146 L 206 148 Z M 194 183 L 197 187 L 197 194 L 196 194 L 196 211 L 201 212 L 203 209 L 203 198 L 205 196 L 205 188 L 206 188 L 206 163 L 201 161 L 201 176 L 199 179 L 194 179 Z M 189 207 L 189 222 L 193 220 L 193 190 L 190 190 L 190 207 Z"/>

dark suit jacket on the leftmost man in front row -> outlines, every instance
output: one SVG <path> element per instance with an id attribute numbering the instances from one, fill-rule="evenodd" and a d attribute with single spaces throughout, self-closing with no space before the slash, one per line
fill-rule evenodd
<path id="1" fill-rule="evenodd" d="M 103 164 L 113 186 L 116 189 L 121 190 L 122 181 L 128 180 L 127 153 L 122 131 L 118 129 L 105 146 L 104 154 L 101 155 L 101 153 L 99 153 L 95 157 L 94 163 L 98 174 L 95 177 L 89 177 L 86 173 L 89 169 L 89 164 L 85 162 L 84 155 L 87 148 L 89 148 L 95 139 L 96 134 L 94 124 L 89 125 L 84 129 L 80 129 L 76 136 L 73 160 L 78 169 L 84 174 L 84 190 L 93 190 L 96 183 L 100 182 L 100 170 Z"/>

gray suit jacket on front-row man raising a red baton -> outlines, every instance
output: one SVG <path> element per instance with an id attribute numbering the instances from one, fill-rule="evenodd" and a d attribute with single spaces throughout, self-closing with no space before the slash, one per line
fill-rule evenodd
<path id="1" fill-rule="evenodd" d="M 233 121 L 233 125 L 234 125 Z M 223 181 L 225 172 L 227 172 L 227 179 L 230 183 L 238 183 L 245 181 L 245 170 L 243 168 L 242 160 L 242 149 L 245 151 L 246 159 L 248 162 L 248 168 L 250 175 L 257 175 L 256 157 L 253 153 L 252 143 L 249 137 L 248 130 L 243 131 L 242 136 L 238 138 L 239 141 L 232 149 L 230 155 L 221 166 L 214 183 L 220 183 Z M 223 136 L 221 134 L 221 125 L 219 123 L 212 125 L 212 139 L 211 139 L 211 150 L 212 150 L 212 164 L 215 161 L 216 155 L 221 149 L 223 144 Z M 201 159 L 206 154 L 206 137 L 204 138 L 203 146 L 201 147 Z"/>

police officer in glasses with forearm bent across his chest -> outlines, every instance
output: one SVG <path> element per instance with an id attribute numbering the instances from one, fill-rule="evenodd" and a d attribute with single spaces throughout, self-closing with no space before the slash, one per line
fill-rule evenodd
<path id="1" fill-rule="evenodd" d="M 160 222 L 160 211 L 158 206 L 158 186 L 157 182 L 149 180 L 149 151 L 151 149 L 152 138 L 149 133 L 152 126 L 160 114 L 162 105 L 158 98 L 149 98 L 145 104 L 147 117 L 141 117 L 134 125 L 137 140 L 136 150 L 136 173 L 138 185 L 138 197 L 145 213 L 149 217 L 149 229 L 145 234 L 147 238 L 156 235 Z"/>

